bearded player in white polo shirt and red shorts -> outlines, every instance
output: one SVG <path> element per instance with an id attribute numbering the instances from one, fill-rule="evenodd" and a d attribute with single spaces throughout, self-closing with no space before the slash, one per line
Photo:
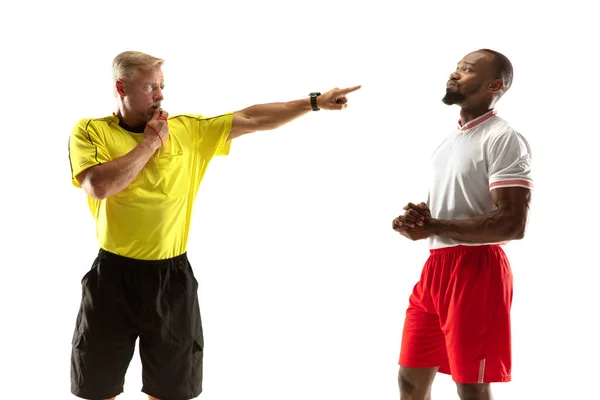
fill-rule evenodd
<path id="1" fill-rule="evenodd" d="M 533 188 L 529 144 L 494 109 L 512 77 L 493 50 L 458 63 L 442 101 L 460 120 L 433 154 L 429 198 L 392 222 L 431 249 L 404 322 L 402 400 L 430 399 L 437 372 L 463 400 L 491 399 L 491 382 L 511 380 L 512 273 L 500 245 L 523 238 Z"/>

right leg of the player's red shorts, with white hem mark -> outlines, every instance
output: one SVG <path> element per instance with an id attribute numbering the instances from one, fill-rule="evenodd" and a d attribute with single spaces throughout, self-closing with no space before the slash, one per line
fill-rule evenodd
<path id="1" fill-rule="evenodd" d="M 459 384 L 511 377 L 512 274 L 504 252 L 482 246 L 460 257 L 443 315 L 453 379 Z"/>

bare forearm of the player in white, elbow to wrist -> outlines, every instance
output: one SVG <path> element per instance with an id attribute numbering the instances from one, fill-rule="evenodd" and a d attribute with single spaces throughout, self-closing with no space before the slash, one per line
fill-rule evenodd
<path id="1" fill-rule="evenodd" d="M 435 236 L 472 243 L 497 243 L 521 239 L 525 226 L 522 219 L 502 210 L 495 210 L 463 220 L 429 220 Z"/>

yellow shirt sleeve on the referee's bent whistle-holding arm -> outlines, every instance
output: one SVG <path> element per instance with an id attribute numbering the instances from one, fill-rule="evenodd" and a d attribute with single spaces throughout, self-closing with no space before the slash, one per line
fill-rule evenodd
<path id="1" fill-rule="evenodd" d="M 81 120 L 75 125 L 69 137 L 69 162 L 71 164 L 71 183 L 81 187 L 76 179 L 84 170 L 110 161 L 106 147 L 97 131 L 93 129 L 92 120 Z"/>

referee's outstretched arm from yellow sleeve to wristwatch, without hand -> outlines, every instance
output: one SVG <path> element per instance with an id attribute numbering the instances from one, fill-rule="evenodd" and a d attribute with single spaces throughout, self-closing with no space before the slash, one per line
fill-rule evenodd
<path id="1" fill-rule="evenodd" d="M 318 102 L 319 98 L 317 98 Z M 233 113 L 228 140 L 256 131 L 279 128 L 312 110 L 310 99 L 257 104 Z"/>

